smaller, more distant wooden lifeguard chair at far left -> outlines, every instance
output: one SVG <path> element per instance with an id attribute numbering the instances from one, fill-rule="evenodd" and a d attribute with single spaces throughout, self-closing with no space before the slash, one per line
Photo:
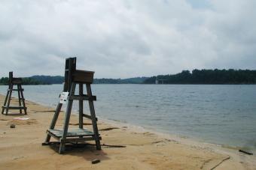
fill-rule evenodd
<path id="1" fill-rule="evenodd" d="M 2 106 L 2 114 L 8 115 L 9 109 L 19 109 L 20 114 L 22 114 L 24 110 L 24 114 L 26 115 L 26 104 L 25 104 L 25 99 L 23 96 L 23 91 L 24 89 L 21 86 L 22 84 L 22 79 L 21 78 L 14 78 L 13 72 L 9 72 L 9 85 L 8 85 L 8 90 L 7 94 L 5 97 L 5 103 L 4 106 Z M 14 85 L 17 85 L 17 88 L 14 88 Z M 11 103 L 11 94 L 13 91 L 18 92 L 18 102 L 19 106 L 10 106 Z"/>

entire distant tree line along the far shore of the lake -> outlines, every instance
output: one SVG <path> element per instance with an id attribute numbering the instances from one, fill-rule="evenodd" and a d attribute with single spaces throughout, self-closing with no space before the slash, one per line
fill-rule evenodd
<path id="1" fill-rule="evenodd" d="M 181 73 L 129 79 L 94 79 L 94 84 L 256 84 L 256 70 L 183 70 Z M 63 76 L 30 76 L 23 78 L 23 85 L 62 84 Z M 0 85 L 8 85 L 8 77 L 0 79 Z"/>

